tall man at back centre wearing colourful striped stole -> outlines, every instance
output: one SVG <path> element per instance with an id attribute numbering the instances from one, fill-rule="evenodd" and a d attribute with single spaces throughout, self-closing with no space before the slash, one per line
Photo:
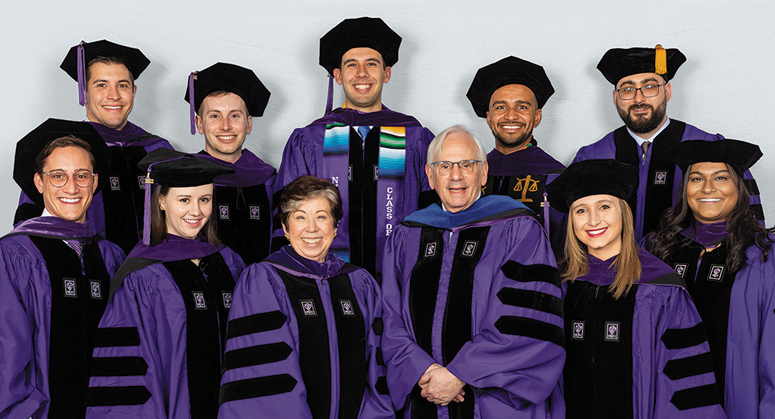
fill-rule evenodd
<path id="1" fill-rule="evenodd" d="M 345 103 L 296 129 L 283 151 L 281 189 L 301 175 L 339 189 L 344 217 L 331 251 L 380 280 L 382 248 L 404 217 L 435 201 L 423 167 L 433 134 L 382 104 L 401 37 L 382 19 L 346 19 L 320 39 L 320 65 L 342 85 Z M 275 220 L 273 249 L 285 240 Z"/>

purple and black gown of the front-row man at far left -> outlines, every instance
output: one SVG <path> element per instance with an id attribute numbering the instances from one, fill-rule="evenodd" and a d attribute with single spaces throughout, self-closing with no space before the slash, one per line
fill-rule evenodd
<path id="1" fill-rule="evenodd" d="M 85 267 L 76 265 L 86 275 L 63 271 L 79 261 L 65 239 L 90 243 Z M 46 255 L 61 265 L 47 266 Z M 88 224 L 57 217 L 27 220 L 0 240 L 0 418 L 83 417 L 91 342 L 123 259 Z"/>

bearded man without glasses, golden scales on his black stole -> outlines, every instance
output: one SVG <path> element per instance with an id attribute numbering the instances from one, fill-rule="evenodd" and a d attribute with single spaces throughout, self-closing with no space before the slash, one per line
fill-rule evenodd
<path id="1" fill-rule="evenodd" d="M 476 115 L 487 118 L 495 136 L 482 192 L 508 195 L 533 210 L 555 254 L 561 255 L 565 217 L 551 208 L 544 190 L 565 166 L 541 150 L 533 138 L 533 128 L 541 123 L 541 109 L 553 93 L 543 67 L 506 57 L 480 68 L 466 96 Z"/>

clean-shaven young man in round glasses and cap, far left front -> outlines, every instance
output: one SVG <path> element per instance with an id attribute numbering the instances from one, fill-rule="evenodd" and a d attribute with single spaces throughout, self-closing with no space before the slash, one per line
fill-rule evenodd
<path id="1" fill-rule="evenodd" d="M 87 123 L 50 119 L 19 141 L 14 179 L 44 210 L 0 239 L 0 418 L 85 415 L 97 324 L 124 259 L 86 222 L 109 163 Z"/>

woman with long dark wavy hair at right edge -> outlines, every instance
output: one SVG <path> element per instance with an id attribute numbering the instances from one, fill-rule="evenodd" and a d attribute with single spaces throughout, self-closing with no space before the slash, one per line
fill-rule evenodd
<path id="1" fill-rule="evenodd" d="M 743 173 L 762 156 L 738 140 L 684 141 L 669 155 L 681 194 L 646 246 L 672 266 L 708 331 L 730 418 L 775 412 L 775 237 L 749 210 Z"/>

